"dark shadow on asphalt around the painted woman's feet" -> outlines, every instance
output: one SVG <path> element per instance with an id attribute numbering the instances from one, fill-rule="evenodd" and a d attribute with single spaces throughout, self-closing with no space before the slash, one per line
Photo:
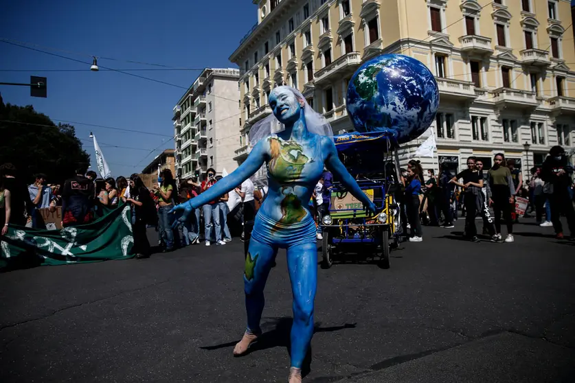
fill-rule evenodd
<path id="1" fill-rule="evenodd" d="M 257 342 L 253 343 L 249 349 L 242 356 L 247 356 L 254 351 L 261 351 L 265 349 L 271 349 L 273 347 L 286 347 L 288 354 L 291 353 L 291 325 L 293 324 L 293 318 L 281 317 L 281 318 L 265 318 L 269 321 L 262 323 L 262 327 L 274 326 L 270 331 L 263 332 L 263 334 L 258 338 Z M 356 323 L 346 323 L 341 326 L 331 326 L 331 327 L 320 327 L 321 322 L 315 323 L 313 327 L 313 333 L 317 332 L 334 332 L 341 329 L 354 329 Z M 217 349 L 224 349 L 227 347 L 234 347 L 236 343 L 240 340 L 234 340 L 232 342 L 222 343 L 221 345 L 213 346 L 203 346 L 200 349 L 213 351 Z M 304 359 L 304 364 L 302 365 L 302 376 L 308 375 L 311 371 L 311 347 L 309 347 L 306 358 Z"/>

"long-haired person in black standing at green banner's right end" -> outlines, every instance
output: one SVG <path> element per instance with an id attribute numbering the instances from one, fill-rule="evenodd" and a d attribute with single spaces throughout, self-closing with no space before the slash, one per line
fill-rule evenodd
<path id="1" fill-rule="evenodd" d="M 130 198 L 124 202 L 132 207 L 132 233 L 134 235 L 134 251 L 137 259 L 148 258 L 151 255 L 150 242 L 146 235 L 146 224 L 157 224 L 157 213 L 150 191 L 144 186 L 139 175 L 130 176 Z"/>

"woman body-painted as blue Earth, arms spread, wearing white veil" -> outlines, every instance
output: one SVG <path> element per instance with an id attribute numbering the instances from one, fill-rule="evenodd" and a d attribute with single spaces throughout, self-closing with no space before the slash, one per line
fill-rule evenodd
<path id="1" fill-rule="evenodd" d="M 278 249 L 286 248 L 293 294 L 289 382 L 294 383 L 302 381 L 302 362 L 313 336 L 317 247 L 308 201 L 324 164 L 369 213 L 375 213 L 376 208 L 339 161 L 328 122 L 313 111 L 300 92 L 278 86 L 269 96 L 269 106 L 273 115 L 251 128 L 253 149 L 247 160 L 210 189 L 172 211 L 183 209 L 180 220 L 187 220 L 193 209 L 238 187 L 266 163 L 269 194 L 256 216 L 245 261 L 247 329 L 234 348 L 234 355 L 245 353 L 261 334 L 264 286 Z"/>

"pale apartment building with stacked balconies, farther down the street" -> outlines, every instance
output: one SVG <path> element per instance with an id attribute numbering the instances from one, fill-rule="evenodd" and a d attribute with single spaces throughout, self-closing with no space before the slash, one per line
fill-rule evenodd
<path id="1" fill-rule="evenodd" d="M 177 178 L 238 167 L 238 69 L 204 69 L 174 106 Z"/>

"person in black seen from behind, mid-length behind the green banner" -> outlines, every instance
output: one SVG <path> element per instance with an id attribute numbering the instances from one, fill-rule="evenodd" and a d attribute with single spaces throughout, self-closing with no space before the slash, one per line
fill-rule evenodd
<path id="1" fill-rule="evenodd" d="M 82 174 L 86 165 L 76 170 L 76 176 L 64 183 L 62 191 L 62 226 L 70 227 L 93 221 L 94 184 Z"/>

